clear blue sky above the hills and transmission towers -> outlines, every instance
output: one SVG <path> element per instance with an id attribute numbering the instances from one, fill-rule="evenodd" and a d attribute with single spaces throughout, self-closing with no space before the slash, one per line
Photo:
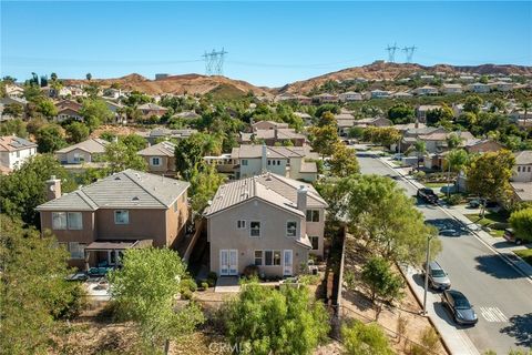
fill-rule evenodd
<path id="1" fill-rule="evenodd" d="M 222 48 L 224 75 L 267 87 L 388 60 L 393 43 L 421 64 L 532 64 L 531 1 L 0 0 L 0 72 L 19 81 L 205 73 Z"/>

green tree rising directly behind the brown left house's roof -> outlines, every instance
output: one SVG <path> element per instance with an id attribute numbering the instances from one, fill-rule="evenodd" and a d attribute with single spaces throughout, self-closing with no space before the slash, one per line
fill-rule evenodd
<path id="1" fill-rule="evenodd" d="M 109 173 L 117 173 L 126 169 L 146 171 L 147 163 L 136 154 L 136 150 L 127 146 L 123 142 L 109 143 L 105 145 L 103 160 L 109 163 L 106 168 Z"/>

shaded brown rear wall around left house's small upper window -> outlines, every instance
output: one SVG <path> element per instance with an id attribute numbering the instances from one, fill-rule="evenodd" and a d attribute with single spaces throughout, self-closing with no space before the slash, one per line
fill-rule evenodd
<path id="1" fill-rule="evenodd" d="M 153 240 L 154 246 L 166 246 L 166 210 L 130 211 L 129 224 L 115 224 L 114 211 L 120 209 L 100 209 L 96 211 L 96 232 L 100 240 Z"/>

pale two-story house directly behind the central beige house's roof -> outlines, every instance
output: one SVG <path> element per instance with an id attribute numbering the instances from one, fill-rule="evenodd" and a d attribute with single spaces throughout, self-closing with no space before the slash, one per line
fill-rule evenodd
<path id="1" fill-rule="evenodd" d="M 319 155 L 310 152 L 307 145 L 241 145 L 233 148 L 231 159 L 236 162 L 236 179 L 260 175 L 267 171 L 308 182 L 318 179 L 318 169 L 314 160 L 318 160 Z"/>

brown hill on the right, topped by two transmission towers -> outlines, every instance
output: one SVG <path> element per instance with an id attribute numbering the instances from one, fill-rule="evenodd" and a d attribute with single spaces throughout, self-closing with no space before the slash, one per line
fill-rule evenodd
<path id="1" fill-rule="evenodd" d="M 383 61 L 377 61 L 369 65 L 354 67 L 344 69 L 337 72 L 327 73 L 316 78 L 307 80 L 296 81 L 287 84 L 283 88 L 278 88 L 277 92 L 287 93 L 306 93 L 315 87 L 319 87 L 329 80 L 350 80 L 356 78 L 365 78 L 368 80 L 393 80 L 409 77 L 417 72 L 436 73 L 446 72 L 448 74 L 456 73 L 478 73 L 478 74 L 518 74 L 518 75 L 532 75 L 532 67 L 512 65 L 512 64 L 482 64 L 482 65 L 448 65 L 436 64 L 432 67 L 426 67 L 420 64 L 410 63 L 386 63 Z"/>

